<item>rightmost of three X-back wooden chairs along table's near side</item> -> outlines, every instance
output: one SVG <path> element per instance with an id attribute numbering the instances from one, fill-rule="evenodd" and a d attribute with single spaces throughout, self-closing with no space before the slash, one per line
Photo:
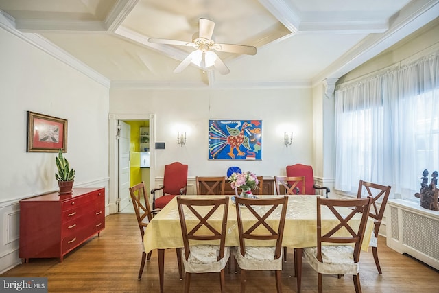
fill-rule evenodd
<path id="1" fill-rule="evenodd" d="M 317 198 L 317 246 L 297 248 L 297 250 L 302 250 L 303 257 L 316 270 L 319 293 L 322 293 L 322 274 L 352 274 L 355 292 L 361 292 L 359 256 L 371 203 L 372 198 L 355 198 L 352 200 Z M 351 207 L 352 210 L 344 209 L 341 212 L 337 209 L 339 207 Z M 322 226 L 323 210 L 331 211 L 331 214 L 337 218 L 337 221 L 331 226 Z M 360 218 L 359 224 L 349 222 L 355 216 Z M 349 235 L 340 236 L 341 231 L 347 231 Z M 300 252 L 300 255 L 302 255 L 302 252 Z M 295 266 L 298 266 L 298 261 L 295 262 Z M 300 292 L 301 265 L 295 269 L 298 272 L 297 292 Z"/>

